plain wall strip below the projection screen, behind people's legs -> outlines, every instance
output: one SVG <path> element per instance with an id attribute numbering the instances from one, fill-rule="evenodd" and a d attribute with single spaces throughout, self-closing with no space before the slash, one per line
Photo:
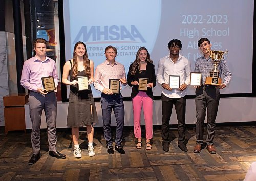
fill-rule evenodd
<path id="1" fill-rule="evenodd" d="M 100 102 L 96 102 L 96 109 L 99 118 L 99 123 L 95 126 L 103 126 L 102 112 Z M 65 128 L 67 123 L 69 103 L 57 103 L 57 128 Z M 124 101 L 125 117 L 124 125 L 133 126 L 133 107 L 131 101 Z M 219 104 L 218 115 L 216 118 L 217 123 L 231 123 L 234 122 L 249 122 L 256 120 L 256 98 L 243 97 L 243 98 L 221 98 Z M 206 115 L 207 118 L 207 115 Z M 29 117 L 29 105 L 25 105 L 25 119 L 26 129 L 31 129 L 31 120 Z M 141 114 L 141 125 L 144 125 L 144 116 Z M 162 123 L 162 105 L 161 100 L 154 100 L 153 106 L 153 125 L 161 125 Z M 186 100 L 186 124 L 196 123 L 196 107 L 195 99 Z M 206 120 L 205 120 L 206 123 Z M 170 124 L 177 124 L 177 117 L 175 108 L 172 111 Z M 112 126 L 116 125 L 115 116 L 112 111 Z M 45 114 L 42 114 L 41 128 L 47 128 Z"/>

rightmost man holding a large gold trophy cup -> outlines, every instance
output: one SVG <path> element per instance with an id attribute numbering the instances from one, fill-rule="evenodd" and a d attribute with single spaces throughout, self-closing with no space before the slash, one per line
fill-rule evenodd
<path id="1" fill-rule="evenodd" d="M 198 58 L 195 63 L 195 72 L 202 73 L 202 86 L 196 89 L 196 138 L 197 143 L 194 153 L 201 152 L 204 135 L 204 119 L 207 108 L 207 150 L 210 154 L 216 154 L 214 147 L 215 119 L 218 112 L 220 101 L 220 89 L 225 88 L 231 80 L 231 72 L 228 69 L 226 60 L 223 59 L 224 52 L 211 51 L 209 39 L 201 38 L 198 41 L 198 47 L 203 56 Z M 224 75 L 222 83 L 221 74 Z"/>

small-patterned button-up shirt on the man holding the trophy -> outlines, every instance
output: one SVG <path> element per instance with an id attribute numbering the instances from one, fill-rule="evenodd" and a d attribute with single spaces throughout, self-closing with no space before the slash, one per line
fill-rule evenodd
<path id="1" fill-rule="evenodd" d="M 214 69 L 214 64 L 212 63 L 211 58 L 206 59 L 204 56 L 202 56 L 196 60 L 195 72 L 202 72 L 202 84 L 204 84 L 206 77 L 209 76 L 212 69 Z M 228 69 L 226 60 L 222 59 L 220 61 L 218 65 L 218 70 L 220 71 L 220 76 L 223 73 L 223 83 L 227 86 L 231 80 L 232 74 Z"/>

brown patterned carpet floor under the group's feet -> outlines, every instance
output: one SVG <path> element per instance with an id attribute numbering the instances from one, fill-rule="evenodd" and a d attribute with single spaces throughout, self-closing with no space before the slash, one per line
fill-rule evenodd
<path id="1" fill-rule="evenodd" d="M 217 127 L 217 154 L 206 149 L 193 153 L 195 128 L 186 131 L 188 152 L 177 147 L 177 129 L 172 129 L 170 151 L 164 152 L 161 131 L 154 129 L 152 150 L 136 149 L 132 127 L 124 130 L 121 155 L 106 152 L 102 128 L 95 129 L 96 155 L 87 155 L 88 141 L 84 128 L 80 132 L 82 158 L 75 159 L 70 129 L 58 129 L 57 147 L 67 159 L 48 155 L 47 134 L 41 131 L 41 159 L 28 165 L 32 149 L 30 133 L 0 130 L 0 180 L 243 180 L 250 164 L 256 161 L 256 126 Z M 145 132 L 142 132 L 145 135 Z M 205 130 L 206 133 L 206 130 Z"/>

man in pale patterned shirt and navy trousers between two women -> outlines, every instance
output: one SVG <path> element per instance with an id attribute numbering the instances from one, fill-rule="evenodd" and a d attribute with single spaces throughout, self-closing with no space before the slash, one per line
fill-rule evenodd
<path id="1" fill-rule="evenodd" d="M 114 94 L 113 91 L 109 89 L 109 79 L 118 79 L 122 85 L 127 85 L 124 66 L 115 61 L 116 55 L 117 50 L 115 47 L 108 46 L 105 48 L 106 61 L 96 68 L 94 87 L 101 92 L 100 102 L 102 108 L 103 130 L 108 153 L 114 154 L 111 134 L 111 112 L 113 109 L 116 117 L 115 150 L 124 154 L 125 151 L 121 145 L 124 125 L 123 96 L 121 93 Z"/>

